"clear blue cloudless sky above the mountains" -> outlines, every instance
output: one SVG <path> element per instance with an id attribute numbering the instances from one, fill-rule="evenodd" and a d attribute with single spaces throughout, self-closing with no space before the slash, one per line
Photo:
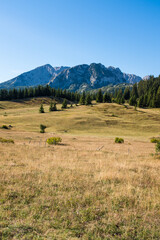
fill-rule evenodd
<path id="1" fill-rule="evenodd" d="M 160 0 L 0 0 L 0 82 L 37 66 L 160 74 Z"/>

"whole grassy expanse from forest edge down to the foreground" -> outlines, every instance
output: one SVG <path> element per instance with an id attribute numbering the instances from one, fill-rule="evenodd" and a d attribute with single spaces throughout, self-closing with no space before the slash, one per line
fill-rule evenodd
<path id="1" fill-rule="evenodd" d="M 49 103 L 0 102 L 0 239 L 159 240 L 160 109 Z"/>

